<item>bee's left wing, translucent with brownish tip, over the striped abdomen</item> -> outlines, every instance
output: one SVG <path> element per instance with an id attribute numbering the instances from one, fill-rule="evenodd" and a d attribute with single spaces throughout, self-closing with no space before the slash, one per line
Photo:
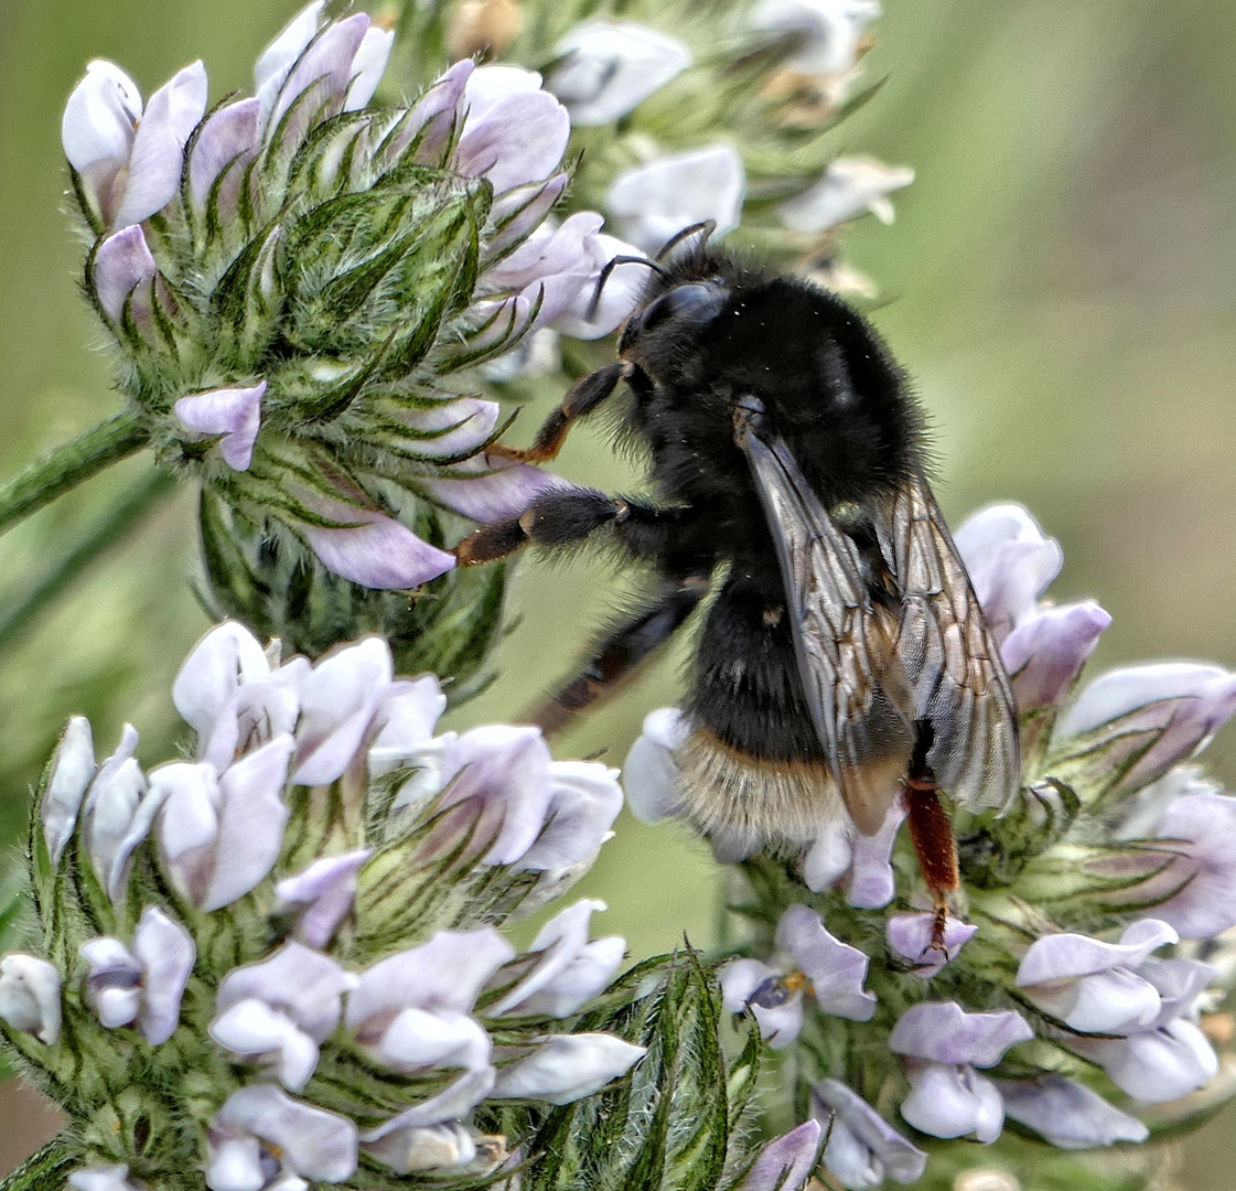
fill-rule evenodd
<path id="1" fill-rule="evenodd" d="M 798 673 L 854 822 L 884 822 L 913 751 L 913 699 L 895 617 L 873 605 L 854 543 L 833 523 L 785 443 L 740 438 L 781 563 Z"/>

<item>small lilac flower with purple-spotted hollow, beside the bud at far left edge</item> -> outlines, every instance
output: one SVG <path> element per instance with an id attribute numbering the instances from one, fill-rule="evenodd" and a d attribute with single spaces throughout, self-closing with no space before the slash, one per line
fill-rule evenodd
<path id="1" fill-rule="evenodd" d="M 152 1046 L 166 1043 L 180 1020 L 180 998 L 198 949 L 193 936 L 158 907 L 142 910 L 132 947 L 119 939 L 82 945 L 89 972 L 85 1001 L 108 1029 L 133 1025 Z"/>

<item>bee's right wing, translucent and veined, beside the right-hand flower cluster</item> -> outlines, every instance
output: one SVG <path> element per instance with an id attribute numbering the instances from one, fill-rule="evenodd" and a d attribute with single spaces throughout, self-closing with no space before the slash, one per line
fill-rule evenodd
<path id="1" fill-rule="evenodd" d="M 897 653 L 915 719 L 932 726 L 927 763 L 970 810 L 1002 809 L 1021 783 L 1017 701 L 965 564 L 917 472 L 878 523 L 901 594 Z"/>

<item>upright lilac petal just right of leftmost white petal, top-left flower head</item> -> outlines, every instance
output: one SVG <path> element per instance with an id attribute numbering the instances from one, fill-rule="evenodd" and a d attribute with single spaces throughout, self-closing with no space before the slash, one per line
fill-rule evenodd
<path id="1" fill-rule="evenodd" d="M 112 220 L 127 228 L 162 210 L 176 198 L 184 173 L 184 146 L 206 113 L 206 72 L 185 67 L 146 105 L 129 158 L 125 197 Z"/>

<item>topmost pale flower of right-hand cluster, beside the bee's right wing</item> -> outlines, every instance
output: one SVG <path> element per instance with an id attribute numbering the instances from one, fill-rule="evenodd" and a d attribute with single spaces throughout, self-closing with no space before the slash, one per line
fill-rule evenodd
<path id="1" fill-rule="evenodd" d="M 953 536 L 996 642 L 1038 608 L 1038 597 L 1060 573 L 1064 553 L 1044 538 L 1020 505 L 991 505 Z"/>

